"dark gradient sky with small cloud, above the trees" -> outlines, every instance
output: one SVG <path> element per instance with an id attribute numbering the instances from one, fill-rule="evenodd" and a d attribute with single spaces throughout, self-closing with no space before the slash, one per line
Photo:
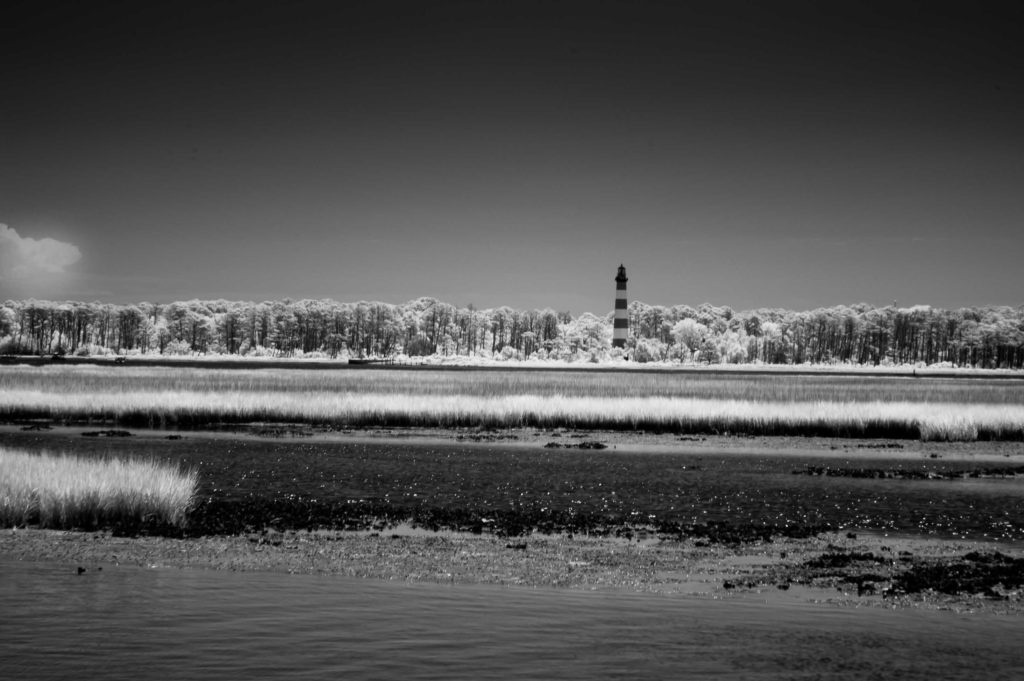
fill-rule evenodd
<path id="1" fill-rule="evenodd" d="M 0 299 L 1020 305 L 1022 46 L 1021 2 L 14 2 Z"/>

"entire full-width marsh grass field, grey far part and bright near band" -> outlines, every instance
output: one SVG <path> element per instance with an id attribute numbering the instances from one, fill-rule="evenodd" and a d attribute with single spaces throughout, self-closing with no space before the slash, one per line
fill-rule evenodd
<path id="1" fill-rule="evenodd" d="M 42 371 L 40 371 L 42 370 Z M 1024 439 L 1024 382 L 574 372 L 12 368 L 0 419 Z"/>

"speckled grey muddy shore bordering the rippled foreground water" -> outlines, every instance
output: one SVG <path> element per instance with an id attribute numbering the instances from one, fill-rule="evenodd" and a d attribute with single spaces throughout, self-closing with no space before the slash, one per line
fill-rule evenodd
<path id="1" fill-rule="evenodd" d="M 810 570 L 829 556 L 876 556 L 866 565 Z M 796 599 L 842 607 L 923 608 L 1024 614 L 1024 589 L 887 593 L 915 562 L 955 569 L 965 556 L 1002 555 L 1024 565 L 1024 551 L 996 543 L 826 533 L 740 545 L 700 541 L 530 535 L 512 541 L 408 527 L 385 531 L 273 530 L 168 539 L 48 529 L 0 530 L 0 559 L 67 565 L 80 574 L 106 567 L 216 569 L 342 576 L 391 582 L 530 589 L 627 591 L 711 599 Z M 881 560 L 885 557 L 884 564 Z M 881 574 L 880 574 L 881 572 Z M 869 573 L 869 574 L 868 574 Z"/>

